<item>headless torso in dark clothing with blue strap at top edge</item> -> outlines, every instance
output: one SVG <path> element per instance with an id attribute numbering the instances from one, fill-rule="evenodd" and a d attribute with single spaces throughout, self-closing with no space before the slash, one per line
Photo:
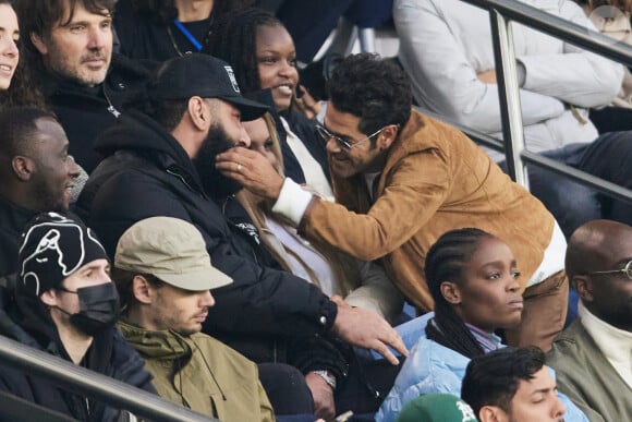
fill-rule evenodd
<path id="1" fill-rule="evenodd" d="M 216 19 L 254 3 L 255 0 L 119 0 L 114 28 L 120 52 L 133 59 L 165 61 L 199 51 Z"/>

